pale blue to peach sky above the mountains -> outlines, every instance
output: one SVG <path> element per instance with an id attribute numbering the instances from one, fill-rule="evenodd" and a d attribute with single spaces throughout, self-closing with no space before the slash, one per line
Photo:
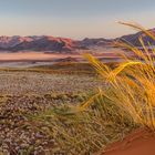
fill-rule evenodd
<path id="1" fill-rule="evenodd" d="M 0 0 L 0 35 L 116 38 L 155 28 L 155 0 Z"/>

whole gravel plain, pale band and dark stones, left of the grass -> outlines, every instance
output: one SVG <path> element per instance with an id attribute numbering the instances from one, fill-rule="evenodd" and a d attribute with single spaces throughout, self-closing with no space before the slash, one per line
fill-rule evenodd
<path id="1" fill-rule="evenodd" d="M 55 140 L 37 130 L 25 115 L 59 103 L 78 103 L 80 93 L 101 86 L 94 76 L 0 72 L 0 153 L 52 155 Z"/>

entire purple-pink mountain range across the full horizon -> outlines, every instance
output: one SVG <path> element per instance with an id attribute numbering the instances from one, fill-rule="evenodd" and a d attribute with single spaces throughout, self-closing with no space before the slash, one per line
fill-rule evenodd
<path id="1" fill-rule="evenodd" d="M 149 30 L 155 34 L 155 29 Z M 49 51 L 49 52 L 74 52 L 76 50 L 89 50 L 92 48 L 110 46 L 114 41 L 125 41 L 133 45 L 141 46 L 138 38 L 142 37 L 145 45 L 148 42 L 155 45 L 155 41 L 144 32 L 123 35 L 116 39 L 89 39 L 72 40 L 66 38 L 54 38 L 49 35 L 33 37 L 0 37 L 0 51 Z"/>

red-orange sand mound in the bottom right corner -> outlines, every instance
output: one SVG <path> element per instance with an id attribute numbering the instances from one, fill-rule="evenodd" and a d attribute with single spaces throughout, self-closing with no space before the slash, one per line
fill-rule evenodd
<path id="1" fill-rule="evenodd" d="M 155 155 L 155 133 L 141 128 L 110 145 L 104 155 Z"/>

